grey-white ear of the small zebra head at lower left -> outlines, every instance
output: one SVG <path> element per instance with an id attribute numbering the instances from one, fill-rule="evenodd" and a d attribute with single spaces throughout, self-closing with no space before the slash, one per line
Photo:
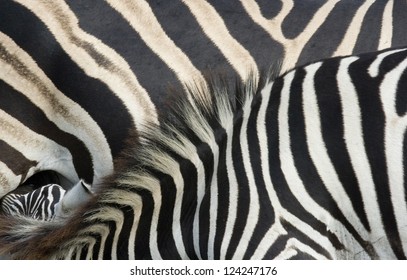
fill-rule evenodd
<path id="1" fill-rule="evenodd" d="M 55 216 L 64 218 L 69 216 L 75 209 L 81 207 L 93 197 L 91 185 L 80 180 L 76 185 L 69 189 L 60 203 L 56 206 Z"/>

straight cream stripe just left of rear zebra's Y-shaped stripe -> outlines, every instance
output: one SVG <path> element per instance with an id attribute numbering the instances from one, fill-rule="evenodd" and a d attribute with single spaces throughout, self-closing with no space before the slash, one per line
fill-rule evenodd
<path id="1" fill-rule="evenodd" d="M 231 36 L 224 21 L 208 2 L 204 0 L 182 0 L 195 16 L 203 32 L 223 53 L 242 80 L 251 73 L 258 76 L 256 62 L 250 53 Z"/>

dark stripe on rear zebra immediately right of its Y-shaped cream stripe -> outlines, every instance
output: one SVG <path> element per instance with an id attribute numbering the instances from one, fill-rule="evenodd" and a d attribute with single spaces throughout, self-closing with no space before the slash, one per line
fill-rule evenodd
<path id="1" fill-rule="evenodd" d="M 339 1 L 304 46 L 297 65 L 331 57 L 341 43 L 355 12 L 362 4 L 363 1 Z"/>

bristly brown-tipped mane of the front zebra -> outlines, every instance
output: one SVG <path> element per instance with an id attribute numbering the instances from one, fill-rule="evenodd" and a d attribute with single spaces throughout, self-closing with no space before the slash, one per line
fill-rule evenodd
<path id="1" fill-rule="evenodd" d="M 234 119 L 242 117 L 244 108 L 275 76 L 271 71 L 260 78 L 252 74 L 233 84 L 212 74 L 206 82 L 186 85 L 183 96 L 189 98 L 175 102 L 161 125 L 147 124 L 127 140 L 114 174 L 96 186 L 95 197 L 72 217 L 45 222 L 0 216 L 0 254 L 10 253 L 16 259 L 61 258 L 72 244 L 88 245 L 81 234 L 89 233 L 95 221 L 114 220 L 113 212 L 121 207 L 141 211 L 139 197 L 154 193 L 157 174 L 171 175 L 178 164 L 174 157 L 193 160 L 189 157 L 196 154 L 195 144 L 210 145 L 217 129 L 233 129 Z"/>

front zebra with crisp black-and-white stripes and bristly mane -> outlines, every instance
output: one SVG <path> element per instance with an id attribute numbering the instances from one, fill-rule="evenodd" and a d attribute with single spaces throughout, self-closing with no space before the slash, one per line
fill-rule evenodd
<path id="1" fill-rule="evenodd" d="M 1 217 L 0 253 L 406 258 L 407 48 L 253 74 L 238 87 L 207 80 L 141 130 L 73 217 Z"/>

